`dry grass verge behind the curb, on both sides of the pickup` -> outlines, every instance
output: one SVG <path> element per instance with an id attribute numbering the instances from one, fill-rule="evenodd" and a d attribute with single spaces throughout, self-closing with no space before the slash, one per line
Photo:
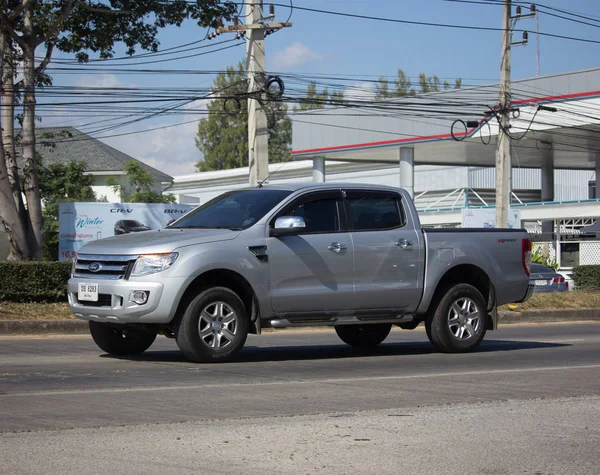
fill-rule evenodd
<path id="1" fill-rule="evenodd" d="M 599 291 L 534 294 L 523 304 L 503 305 L 500 310 L 550 310 L 600 308 Z M 0 320 L 74 320 L 66 303 L 13 303 L 0 301 Z"/>

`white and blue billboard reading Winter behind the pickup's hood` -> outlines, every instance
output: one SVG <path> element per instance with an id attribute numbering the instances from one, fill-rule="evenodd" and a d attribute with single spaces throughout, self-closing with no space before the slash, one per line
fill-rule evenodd
<path id="1" fill-rule="evenodd" d="M 58 259 L 72 259 L 90 241 L 162 229 L 194 208 L 195 205 L 159 203 L 60 203 Z"/>

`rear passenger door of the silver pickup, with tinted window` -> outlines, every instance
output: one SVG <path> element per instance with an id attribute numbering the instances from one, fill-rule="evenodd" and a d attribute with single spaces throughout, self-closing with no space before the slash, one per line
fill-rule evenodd
<path id="1" fill-rule="evenodd" d="M 404 210 L 402 196 L 345 190 L 345 197 L 356 308 L 415 310 L 422 292 L 423 239 Z"/>

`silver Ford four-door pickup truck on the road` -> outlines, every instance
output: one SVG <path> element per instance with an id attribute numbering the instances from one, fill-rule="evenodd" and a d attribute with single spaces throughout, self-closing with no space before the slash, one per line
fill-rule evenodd
<path id="1" fill-rule="evenodd" d="M 373 347 L 425 323 L 443 352 L 475 349 L 497 306 L 527 300 L 524 230 L 421 228 L 402 189 L 267 185 L 225 193 L 166 229 L 84 246 L 69 303 L 105 352 L 175 338 L 193 361 L 225 361 L 248 333 L 333 326 Z"/>

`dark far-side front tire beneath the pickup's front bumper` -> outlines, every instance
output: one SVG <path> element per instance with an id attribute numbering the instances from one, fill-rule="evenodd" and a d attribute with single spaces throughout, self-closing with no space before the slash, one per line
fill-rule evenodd
<path id="1" fill-rule="evenodd" d="M 90 333 L 101 350 L 118 356 L 139 355 L 156 339 L 156 333 L 94 321 L 90 321 Z"/>

